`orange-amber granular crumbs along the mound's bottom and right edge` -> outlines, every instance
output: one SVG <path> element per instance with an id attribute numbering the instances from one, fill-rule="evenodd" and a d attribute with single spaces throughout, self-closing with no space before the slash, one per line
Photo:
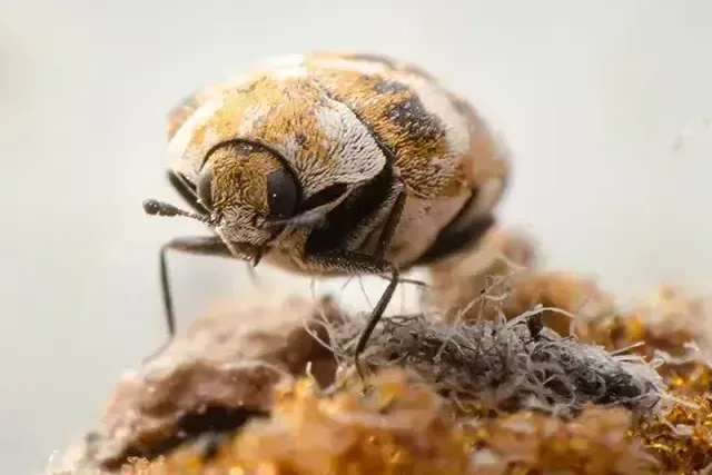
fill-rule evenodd
<path id="1" fill-rule="evenodd" d="M 708 474 L 712 386 L 700 372 L 709 375 L 710 366 L 701 359 L 704 353 L 685 352 L 692 339 L 709 336 L 705 321 L 694 317 L 699 309 L 698 300 L 663 291 L 634 313 L 581 327 L 612 350 L 643 336 L 650 340 L 639 340 L 643 345 L 633 350 L 645 355 L 666 348 L 686 355 L 683 365 L 694 362 L 698 372 L 661 373 L 671 390 L 662 410 L 635 413 L 606 404 L 571 415 L 510 412 L 492 400 L 444 397 L 417 372 L 390 368 L 370 379 L 366 394 L 350 377 L 327 393 L 308 378 L 283 387 L 270 417 L 249 422 L 220 445 L 215 459 L 201 462 L 195 451 L 184 451 L 135 464 L 130 473 L 167 475 L 197 467 L 210 475 Z"/>

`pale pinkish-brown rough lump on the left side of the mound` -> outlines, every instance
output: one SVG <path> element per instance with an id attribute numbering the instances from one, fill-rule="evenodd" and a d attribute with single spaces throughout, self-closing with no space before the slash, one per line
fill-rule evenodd
<path id="1" fill-rule="evenodd" d="M 116 468 L 127 456 L 179 445 L 177 433 L 208 424 L 208 417 L 214 425 L 226 419 L 238 425 L 268 412 L 274 386 L 305 374 L 308 363 L 317 379 L 330 383 L 336 363 L 306 329 L 323 318 L 340 318 L 328 298 L 317 305 L 299 298 L 275 306 L 241 301 L 198 319 L 118 383 L 99 428 L 83 443 L 83 454 L 73 448 L 75 464 L 83 458 L 88 465 Z M 322 327 L 310 331 L 328 340 Z"/>

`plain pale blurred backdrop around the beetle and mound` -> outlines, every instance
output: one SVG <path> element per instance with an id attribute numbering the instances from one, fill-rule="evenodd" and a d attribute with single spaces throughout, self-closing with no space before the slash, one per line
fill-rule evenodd
<path id="1" fill-rule="evenodd" d="M 0 471 L 41 468 L 162 342 L 157 250 L 201 227 L 140 205 L 177 201 L 165 113 L 194 88 L 312 49 L 414 60 L 514 149 L 504 220 L 627 299 L 710 277 L 712 133 L 671 151 L 712 115 L 710 24 L 705 0 L 0 0 Z M 229 261 L 175 256 L 171 275 L 182 325 L 251 291 Z M 357 283 L 343 298 L 366 305 Z"/>

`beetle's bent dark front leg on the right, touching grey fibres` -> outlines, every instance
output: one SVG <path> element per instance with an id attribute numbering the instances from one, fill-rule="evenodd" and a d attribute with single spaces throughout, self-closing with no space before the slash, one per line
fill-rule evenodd
<path id="1" fill-rule="evenodd" d="M 332 271 L 335 270 L 345 274 L 390 274 L 388 286 L 380 295 L 380 298 L 372 310 L 368 321 L 366 323 L 366 327 L 362 330 L 356 344 L 356 349 L 354 350 L 354 365 L 356 366 L 356 372 L 362 380 L 365 380 L 364 372 L 360 366 L 360 354 L 366 348 L 368 339 L 373 335 L 376 325 L 378 325 L 386 307 L 393 298 L 393 294 L 398 285 L 398 268 L 383 258 L 353 251 L 308 256 L 305 258 L 305 264 L 312 268 Z"/>

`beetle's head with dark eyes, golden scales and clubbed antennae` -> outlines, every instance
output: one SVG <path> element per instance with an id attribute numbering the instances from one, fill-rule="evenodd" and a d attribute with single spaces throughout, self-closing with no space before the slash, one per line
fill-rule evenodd
<path id="1" fill-rule="evenodd" d="M 233 247 L 233 254 L 250 260 L 259 260 L 288 226 L 320 226 L 333 202 L 330 198 L 305 202 L 297 174 L 287 160 L 253 142 L 229 141 L 214 147 L 195 180 L 181 180 L 205 208 L 204 215 L 156 200 L 145 201 L 144 209 L 150 215 L 198 219 Z"/>

